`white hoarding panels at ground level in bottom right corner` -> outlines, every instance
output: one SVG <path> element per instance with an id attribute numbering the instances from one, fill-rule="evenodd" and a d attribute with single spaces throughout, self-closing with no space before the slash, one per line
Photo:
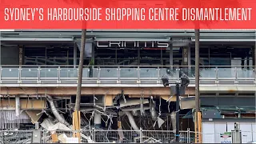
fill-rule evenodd
<path id="1" fill-rule="evenodd" d="M 256 122 L 239 122 L 242 143 L 256 141 Z M 202 142 L 219 143 L 220 134 L 234 130 L 234 122 L 202 122 Z"/>

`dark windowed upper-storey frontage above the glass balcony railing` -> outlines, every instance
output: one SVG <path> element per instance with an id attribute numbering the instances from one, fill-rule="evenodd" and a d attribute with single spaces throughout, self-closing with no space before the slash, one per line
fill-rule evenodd
<path id="1" fill-rule="evenodd" d="M 0 35 L 0 65 L 78 65 L 81 30 Z M 255 30 L 201 30 L 200 65 L 255 66 L 255 35 Z M 84 63 L 93 59 L 101 66 L 193 66 L 195 61 L 194 30 L 87 30 L 86 47 L 90 58 Z"/>

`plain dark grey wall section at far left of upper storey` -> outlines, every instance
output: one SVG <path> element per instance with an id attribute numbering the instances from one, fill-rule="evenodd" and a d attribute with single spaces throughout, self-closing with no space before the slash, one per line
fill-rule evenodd
<path id="1" fill-rule="evenodd" d="M 18 46 L 1 46 L 1 65 L 18 65 Z"/>

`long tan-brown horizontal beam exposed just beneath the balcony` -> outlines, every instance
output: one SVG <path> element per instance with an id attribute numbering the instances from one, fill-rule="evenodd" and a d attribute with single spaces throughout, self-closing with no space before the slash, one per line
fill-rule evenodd
<path id="1" fill-rule="evenodd" d="M 82 87 L 82 95 L 116 95 L 120 94 L 123 90 L 124 94 L 129 95 L 170 95 L 170 87 Z M 2 95 L 15 95 L 15 94 L 47 94 L 56 96 L 74 95 L 76 94 L 76 86 L 74 87 L 2 87 Z M 188 88 L 186 94 L 193 94 L 194 88 Z"/>

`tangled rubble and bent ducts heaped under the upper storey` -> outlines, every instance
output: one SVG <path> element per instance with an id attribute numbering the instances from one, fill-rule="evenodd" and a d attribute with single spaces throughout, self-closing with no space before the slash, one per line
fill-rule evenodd
<path id="1" fill-rule="evenodd" d="M 72 120 L 70 114 L 73 112 L 72 107 L 66 107 L 65 110 L 63 110 L 61 109 L 63 106 L 60 105 L 61 98 L 54 99 L 49 95 L 46 95 L 46 98 L 50 109 L 24 110 L 19 115 L 17 110 L 15 113 L 15 109 L 13 109 L 12 112 L 15 118 L 21 118 L 25 114 L 26 118 L 23 119 L 26 120 L 24 121 L 29 123 L 32 122 L 33 124 L 40 123 L 39 126 L 41 127 L 38 127 L 37 130 L 42 131 L 43 133 L 42 142 L 68 143 L 72 141 L 74 143 L 74 141 L 77 140 L 74 138 L 74 133 L 79 133 L 81 135 L 81 142 L 86 143 L 136 143 L 141 141 L 140 138 L 143 138 L 143 142 L 147 143 L 167 142 L 166 140 L 161 139 L 161 134 L 158 137 L 157 131 L 155 133 L 150 132 L 152 137 L 141 133 L 142 127 L 145 129 L 161 130 L 163 126 L 168 125 L 168 123 L 166 123 L 166 118 L 164 118 L 164 114 L 166 112 L 168 113 L 166 110 L 173 110 L 173 108 L 170 107 L 169 102 L 168 108 L 164 110 L 163 106 L 167 106 L 167 102 L 165 100 L 162 101 L 161 98 L 159 98 L 158 102 L 158 99 L 153 97 L 148 99 L 125 98 L 125 96 L 121 94 L 119 98 L 114 99 L 114 101 L 116 101 L 114 106 L 102 106 L 94 102 L 92 105 L 85 106 L 81 109 L 82 127 L 81 130 L 78 131 L 73 130 L 73 126 L 70 125 Z M 58 102 L 55 102 L 56 100 Z M 67 102 L 65 103 L 65 106 L 70 106 Z M 173 118 L 174 114 L 170 115 L 171 118 Z M 118 120 L 118 118 L 122 118 L 122 120 Z M 118 120 L 118 122 L 120 121 L 118 128 L 114 128 L 114 122 L 116 120 Z M 19 137 L 16 137 L 15 134 L 17 135 L 18 131 L 3 136 L 5 142 L 31 143 L 33 141 L 32 132 L 29 134 L 18 134 Z M 14 140 L 14 138 L 16 138 L 16 140 Z"/>

